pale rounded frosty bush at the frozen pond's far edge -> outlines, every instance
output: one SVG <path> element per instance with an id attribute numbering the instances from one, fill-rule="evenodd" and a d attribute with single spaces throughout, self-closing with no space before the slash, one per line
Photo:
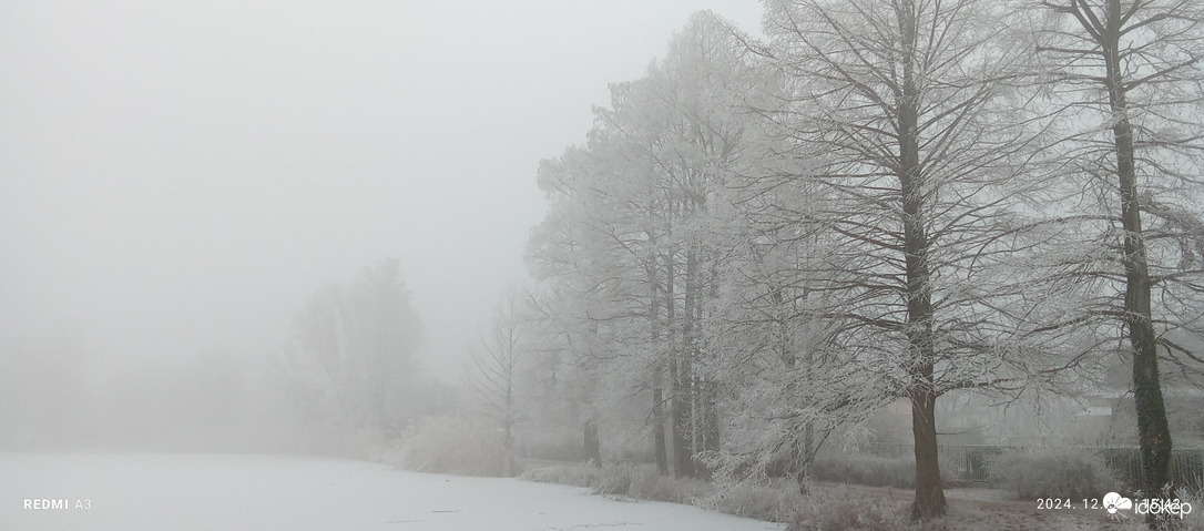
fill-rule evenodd
<path id="1" fill-rule="evenodd" d="M 389 462 L 414 472 L 464 476 L 514 476 L 514 456 L 502 433 L 455 417 L 427 417 L 402 435 Z"/>

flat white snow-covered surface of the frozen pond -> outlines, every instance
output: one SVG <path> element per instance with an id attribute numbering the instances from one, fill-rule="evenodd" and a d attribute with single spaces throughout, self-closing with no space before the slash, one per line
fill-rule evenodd
<path id="1" fill-rule="evenodd" d="M 51 508 L 36 508 L 46 505 Z M 26 506 L 29 508 L 26 508 Z M 0 530 L 780 530 L 562 485 L 277 455 L 0 454 Z"/>

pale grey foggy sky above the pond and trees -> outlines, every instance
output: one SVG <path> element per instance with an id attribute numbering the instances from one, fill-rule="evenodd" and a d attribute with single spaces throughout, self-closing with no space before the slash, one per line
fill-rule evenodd
<path id="1" fill-rule="evenodd" d="M 436 373 L 580 143 L 691 12 L 756 0 L 2 1 L 0 344 L 278 352 L 323 284 L 401 260 Z"/>

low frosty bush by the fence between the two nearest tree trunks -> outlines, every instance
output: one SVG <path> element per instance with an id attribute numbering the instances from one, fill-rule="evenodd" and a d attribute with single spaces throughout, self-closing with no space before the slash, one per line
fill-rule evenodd
<path id="1" fill-rule="evenodd" d="M 1016 449 L 991 461 L 991 483 L 1020 500 L 1100 497 L 1119 483 L 1103 460 L 1080 449 Z"/>

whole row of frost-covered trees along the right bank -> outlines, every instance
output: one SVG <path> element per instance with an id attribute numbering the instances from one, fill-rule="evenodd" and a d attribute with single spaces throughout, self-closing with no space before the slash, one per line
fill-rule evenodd
<path id="1" fill-rule="evenodd" d="M 1084 394 L 1123 356 L 1161 491 L 1159 371 L 1197 370 L 1204 324 L 1200 22 L 1188 0 L 801 0 L 754 39 L 694 16 L 539 166 L 535 284 L 486 349 L 507 439 L 555 399 L 597 459 L 626 426 L 662 473 L 786 455 L 805 485 L 826 437 L 905 399 L 928 519 L 942 395 Z"/>

